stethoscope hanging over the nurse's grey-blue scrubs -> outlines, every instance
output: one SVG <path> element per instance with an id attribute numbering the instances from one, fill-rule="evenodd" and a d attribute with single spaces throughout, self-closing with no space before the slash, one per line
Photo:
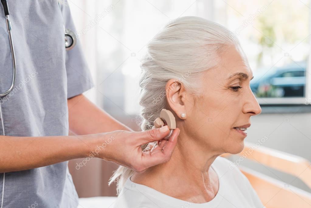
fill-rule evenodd
<path id="1" fill-rule="evenodd" d="M 7 22 L 7 32 L 9 34 L 9 40 L 10 40 L 10 47 L 11 47 L 11 54 L 12 54 L 12 62 L 13 62 L 13 78 L 12 78 L 12 84 L 10 88 L 4 92 L 0 93 L 0 97 L 6 96 L 9 94 L 14 87 L 15 84 L 15 79 L 16 79 L 16 58 L 15 58 L 15 52 L 14 52 L 14 44 L 12 40 L 12 27 L 11 27 L 11 22 L 9 20 L 9 7 L 7 5 L 7 0 L 1 0 L 3 10 L 4 10 L 4 15 L 6 17 L 6 22 Z M 60 8 L 59 2 L 58 6 Z M 65 48 L 66 50 L 71 50 L 77 43 L 76 35 L 69 29 L 65 29 L 65 24 L 64 24 L 64 32 L 65 32 Z"/>

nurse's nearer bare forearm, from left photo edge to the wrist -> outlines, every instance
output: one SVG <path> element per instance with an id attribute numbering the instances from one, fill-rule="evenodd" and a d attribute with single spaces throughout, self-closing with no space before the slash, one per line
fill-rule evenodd
<path id="1" fill-rule="evenodd" d="M 0 136 L 0 173 L 39 168 L 87 157 L 92 135 L 12 137 Z"/>

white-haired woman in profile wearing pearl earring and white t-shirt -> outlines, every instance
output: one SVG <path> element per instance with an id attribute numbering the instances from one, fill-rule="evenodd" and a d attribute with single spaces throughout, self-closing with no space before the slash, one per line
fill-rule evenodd
<path id="1" fill-rule="evenodd" d="M 166 163 L 140 173 L 118 168 L 109 182 L 118 179 L 114 207 L 263 207 L 243 173 L 219 157 L 243 150 L 250 117 L 261 112 L 237 38 L 217 23 L 180 17 L 147 49 L 140 80 L 142 130 L 151 129 L 160 111 L 168 109 L 179 139 Z"/>

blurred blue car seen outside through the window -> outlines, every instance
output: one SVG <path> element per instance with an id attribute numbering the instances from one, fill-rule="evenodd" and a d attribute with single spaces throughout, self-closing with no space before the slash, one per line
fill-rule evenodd
<path id="1" fill-rule="evenodd" d="M 306 62 L 260 72 L 250 83 L 256 97 L 304 97 Z"/>

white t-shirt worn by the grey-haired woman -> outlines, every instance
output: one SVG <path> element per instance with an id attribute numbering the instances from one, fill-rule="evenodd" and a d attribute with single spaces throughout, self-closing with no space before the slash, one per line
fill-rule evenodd
<path id="1" fill-rule="evenodd" d="M 130 177 L 121 190 L 114 208 L 262 208 L 255 190 L 239 168 L 230 161 L 217 157 L 211 164 L 219 178 L 216 196 L 206 203 L 193 203 L 165 195 L 153 188 L 134 183 Z M 178 187 L 176 187 L 178 188 Z"/>

